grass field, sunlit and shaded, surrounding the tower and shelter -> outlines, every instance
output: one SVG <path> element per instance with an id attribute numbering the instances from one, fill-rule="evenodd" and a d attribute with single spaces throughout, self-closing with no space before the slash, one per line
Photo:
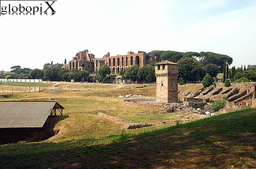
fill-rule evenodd
<path id="1" fill-rule="evenodd" d="M 85 84 L 77 84 L 85 85 Z M 179 86 L 182 91 L 201 86 Z M 256 110 L 245 109 L 174 126 L 124 130 L 97 115 L 103 112 L 129 122 L 157 122 L 184 114 L 142 115 L 153 111 L 122 104 L 110 96 L 155 96 L 155 86 L 117 90 L 46 90 L 13 93 L 0 101 L 45 101 L 64 106 L 59 133 L 48 140 L 0 145 L 1 169 L 230 169 L 256 168 Z M 186 115 L 192 118 L 191 115 Z M 57 117 L 58 118 L 58 117 Z"/>

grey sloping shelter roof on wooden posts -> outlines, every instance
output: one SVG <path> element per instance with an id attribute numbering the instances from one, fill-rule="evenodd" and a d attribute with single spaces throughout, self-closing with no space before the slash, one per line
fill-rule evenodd
<path id="1" fill-rule="evenodd" d="M 41 128 L 57 109 L 62 115 L 56 101 L 0 101 L 0 128 Z"/>

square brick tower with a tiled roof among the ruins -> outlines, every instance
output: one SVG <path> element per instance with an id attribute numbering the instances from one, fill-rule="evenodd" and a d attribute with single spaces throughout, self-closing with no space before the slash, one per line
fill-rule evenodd
<path id="1" fill-rule="evenodd" d="M 161 61 L 155 65 L 156 101 L 178 101 L 178 64 L 171 61 Z"/>

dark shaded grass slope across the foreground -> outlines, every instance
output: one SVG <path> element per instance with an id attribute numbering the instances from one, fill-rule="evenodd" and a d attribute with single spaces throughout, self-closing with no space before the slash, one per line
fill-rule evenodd
<path id="1" fill-rule="evenodd" d="M 0 163 L 10 169 L 249 169 L 256 167 L 255 131 L 255 109 L 245 109 L 138 135 L 121 133 L 109 144 L 64 150 L 68 143 L 43 143 L 62 150 L 0 155 Z"/>

